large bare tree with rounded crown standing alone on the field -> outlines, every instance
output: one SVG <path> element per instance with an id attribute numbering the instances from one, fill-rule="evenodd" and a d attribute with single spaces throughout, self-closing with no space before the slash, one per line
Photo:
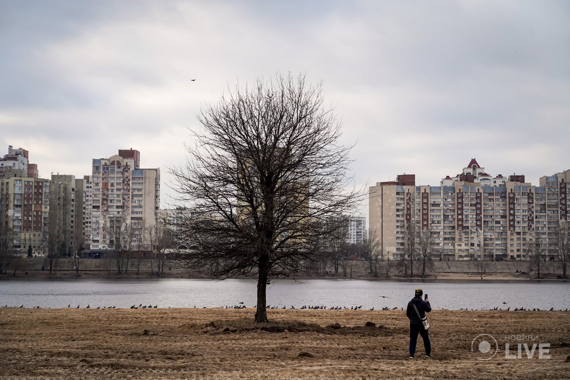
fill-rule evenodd
<path id="1" fill-rule="evenodd" d="M 178 231 L 197 247 L 178 259 L 221 278 L 257 276 L 255 321 L 266 322 L 272 277 L 302 268 L 332 233 L 323 222 L 357 201 L 350 149 L 320 86 L 302 75 L 237 87 L 198 120 L 196 148 L 171 170 L 192 210 Z"/>

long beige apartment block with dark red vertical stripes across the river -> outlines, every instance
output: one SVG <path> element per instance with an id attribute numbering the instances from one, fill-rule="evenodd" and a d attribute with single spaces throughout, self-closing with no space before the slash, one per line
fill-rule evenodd
<path id="1" fill-rule="evenodd" d="M 416 186 L 415 175 L 398 175 L 370 187 L 369 228 L 389 259 L 404 257 L 408 231 L 428 229 L 432 259 L 528 260 L 538 240 L 541 258 L 556 260 L 554 231 L 568 220 L 569 180 L 568 170 L 539 186 L 524 175 L 491 177 L 475 159 L 441 186 Z"/>

